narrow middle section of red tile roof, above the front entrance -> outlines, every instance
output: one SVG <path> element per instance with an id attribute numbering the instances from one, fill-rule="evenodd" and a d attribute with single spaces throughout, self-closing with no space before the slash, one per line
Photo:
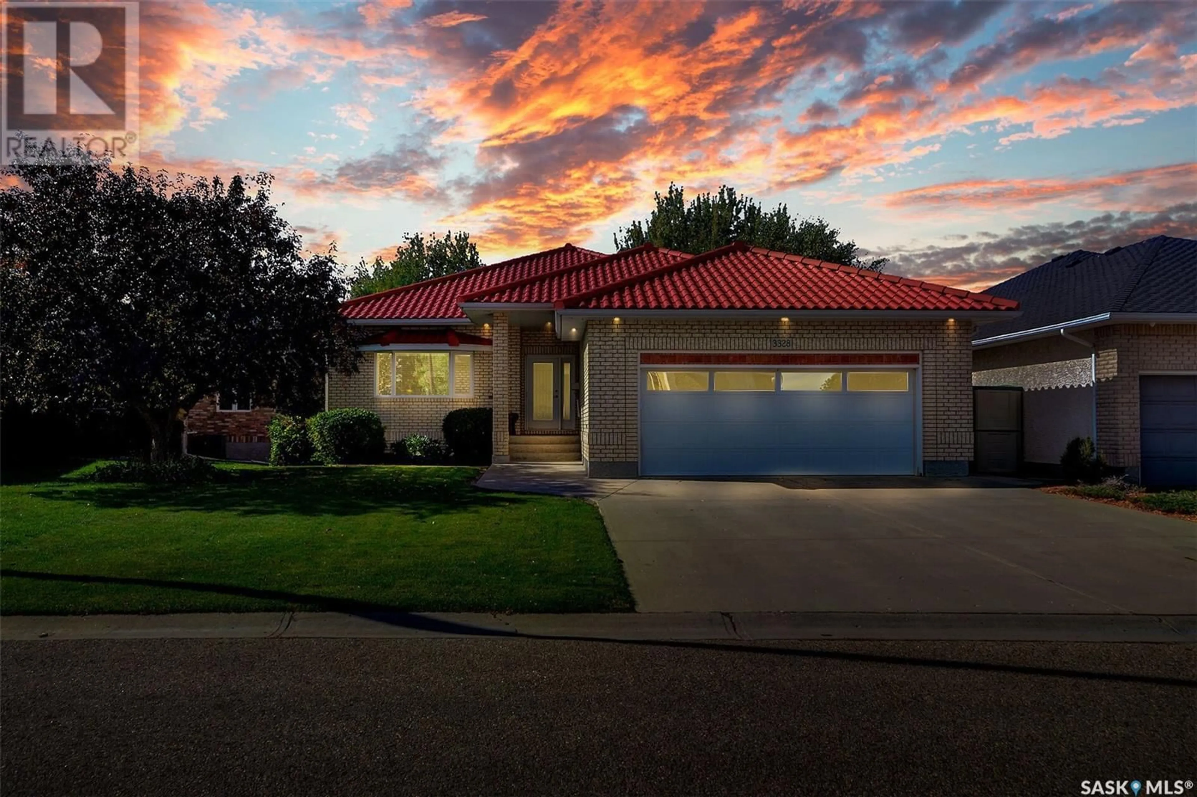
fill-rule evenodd
<path id="1" fill-rule="evenodd" d="M 506 285 L 497 285 L 488 290 L 464 296 L 461 300 L 464 304 L 552 304 L 558 299 L 564 299 L 565 297 L 584 291 L 600 288 L 625 279 L 634 279 L 663 266 L 681 262 L 687 257 L 692 257 L 692 255 L 670 249 L 657 249 L 652 244 L 644 244 L 636 249 L 619 251 L 614 255 L 570 266 L 548 274 L 528 276 L 508 282 Z"/>

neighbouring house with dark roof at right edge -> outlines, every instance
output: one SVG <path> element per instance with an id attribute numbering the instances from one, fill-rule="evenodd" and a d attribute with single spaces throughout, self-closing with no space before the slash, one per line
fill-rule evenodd
<path id="1" fill-rule="evenodd" d="M 989 291 L 1022 315 L 973 335 L 973 384 L 1022 389 L 1022 458 L 1092 437 L 1147 485 L 1197 483 L 1197 241 L 1074 251 Z"/>

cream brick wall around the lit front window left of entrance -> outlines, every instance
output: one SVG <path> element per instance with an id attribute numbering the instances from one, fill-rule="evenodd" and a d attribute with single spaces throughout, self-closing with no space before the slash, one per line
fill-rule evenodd
<path id="1" fill-rule="evenodd" d="M 405 329 L 419 329 L 405 327 Z M 443 329 L 443 327 L 436 327 Z M 454 327 L 457 331 L 491 337 L 491 329 L 463 324 Z M 369 331 L 382 331 L 383 328 Z M 393 443 L 408 434 L 427 434 L 440 439 L 444 434 L 440 424 L 452 409 L 461 407 L 491 406 L 491 352 L 472 352 L 474 360 L 474 395 L 470 398 L 403 396 L 387 397 L 375 395 L 375 364 L 371 352 L 366 352 L 357 373 L 346 376 L 332 372 L 328 375 L 328 408 L 363 407 L 378 413 L 387 428 L 387 442 Z"/>

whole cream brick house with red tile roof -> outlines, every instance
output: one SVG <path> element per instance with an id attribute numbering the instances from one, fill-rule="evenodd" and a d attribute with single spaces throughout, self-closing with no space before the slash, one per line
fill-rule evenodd
<path id="1" fill-rule="evenodd" d="M 968 473 L 988 294 L 733 244 L 564 247 L 351 299 L 328 408 L 389 440 L 493 409 L 493 460 L 591 476 Z"/>

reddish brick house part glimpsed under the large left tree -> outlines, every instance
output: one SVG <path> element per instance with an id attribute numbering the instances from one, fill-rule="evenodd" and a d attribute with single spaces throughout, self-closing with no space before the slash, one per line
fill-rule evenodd
<path id="1" fill-rule="evenodd" d="M 271 439 L 266 427 L 271 407 L 253 407 L 248 400 L 219 394 L 201 398 L 183 419 L 184 451 L 220 460 L 266 462 Z"/>

